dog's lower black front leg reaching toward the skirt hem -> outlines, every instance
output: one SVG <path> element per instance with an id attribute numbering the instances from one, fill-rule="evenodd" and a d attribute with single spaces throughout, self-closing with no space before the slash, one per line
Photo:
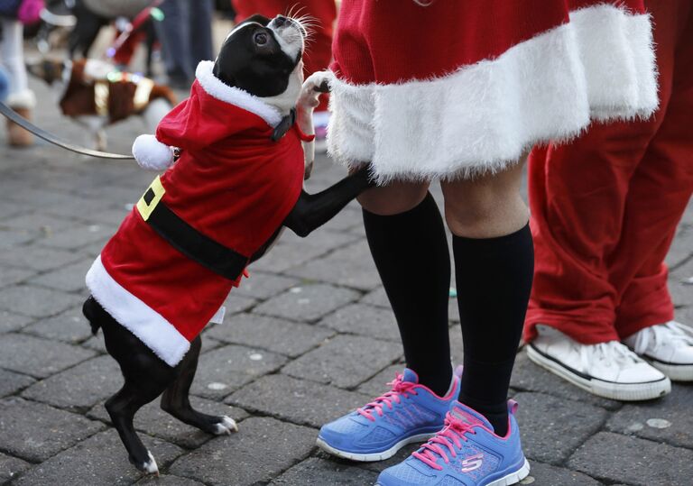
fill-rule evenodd
<path id="1" fill-rule="evenodd" d="M 368 176 L 368 166 L 364 166 L 317 194 L 303 190 L 283 225 L 301 237 L 308 236 L 337 215 L 354 197 L 374 185 Z"/>

